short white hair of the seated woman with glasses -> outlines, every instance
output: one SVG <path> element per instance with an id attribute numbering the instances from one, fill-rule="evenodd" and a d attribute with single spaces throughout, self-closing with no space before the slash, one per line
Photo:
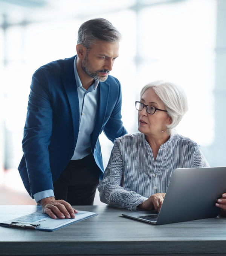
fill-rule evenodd
<path id="1" fill-rule="evenodd" d="M 164 103 L 168 116 L 171 117 L 172 123 L 166 125 L 167 134 L 175 133 L 175 127 L 179 124 L 184 114 L 188 111 L 188 102 L 185 91 L 174 83 L 165 81 L 155 81 L 145 85 L 141 92 L 140 98 L 148 88 L 153 88 L 157 96 Z"/>

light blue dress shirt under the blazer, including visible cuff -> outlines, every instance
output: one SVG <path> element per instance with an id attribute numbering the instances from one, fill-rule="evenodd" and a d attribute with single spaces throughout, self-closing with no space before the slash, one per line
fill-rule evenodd
<path id="1" fill-rule="evenodd" d="M 95 82 L 89 87 L 88 90 L 82 87 L 81 80 L 78 75 L 76 68 L 76 59 L 74 60 L 74 72 L 75 80 L 78 90 L 78 100 L 79 100 L 79 133 L 78 140 L 75 147 L 75 152 L 71 160 L 82 159 L 91 153 L 90 147 L 90 136 L 94 130 L 97 102 L 99 99 L 99 82 Z M 36 202 L 43 198 L 54 196 L 52 189 L 44 190 L 34 194 L 34 199 Z"/>

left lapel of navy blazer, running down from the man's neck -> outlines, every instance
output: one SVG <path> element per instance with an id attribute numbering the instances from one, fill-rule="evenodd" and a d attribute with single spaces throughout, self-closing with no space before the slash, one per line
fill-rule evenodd
<path id="1" fill-rule="evenodd" d="M 78 100 L 78 91 L 75 80 L 74 73 L 74 63 L 75 56 L 69 58 L 64 66 L 64 72 L 61 74 L 63 80 L 64 88 L 67 93 L 69 100 L 71 112 L 72 112 L 72 122 L 73 122 L 73 131 L 74 131 L 74 147 L 78 139 L 79 131 L 79 100 Z"/>

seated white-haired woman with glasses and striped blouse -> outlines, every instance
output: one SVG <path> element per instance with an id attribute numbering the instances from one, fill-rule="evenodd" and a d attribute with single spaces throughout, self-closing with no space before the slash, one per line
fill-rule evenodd
<path id="1" fill-rule="evenodd" d="M 115 140 L 104 179 L 101 202 L 128 210 L 159 209 L 173 171 L 209 167 L 199 145 L 174 128 L 188 110 L 186 94 L 173 83 L 144 86 L 138 110 L 139 133 Z"/>

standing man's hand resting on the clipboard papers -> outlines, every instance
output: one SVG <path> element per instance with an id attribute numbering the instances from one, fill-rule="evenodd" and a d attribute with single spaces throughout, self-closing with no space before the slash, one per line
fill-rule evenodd
<path id="1" fill-rule="evenodd" d="M 69 219 L 70 217 L 75 218 L 77 210 L 73 209 L 72 206 L 64 200 L 55 200 L 54 197 L 46 197 L 40 200 L 43 213 L 48 214 L 51 218 L 56 219 Z"/>

